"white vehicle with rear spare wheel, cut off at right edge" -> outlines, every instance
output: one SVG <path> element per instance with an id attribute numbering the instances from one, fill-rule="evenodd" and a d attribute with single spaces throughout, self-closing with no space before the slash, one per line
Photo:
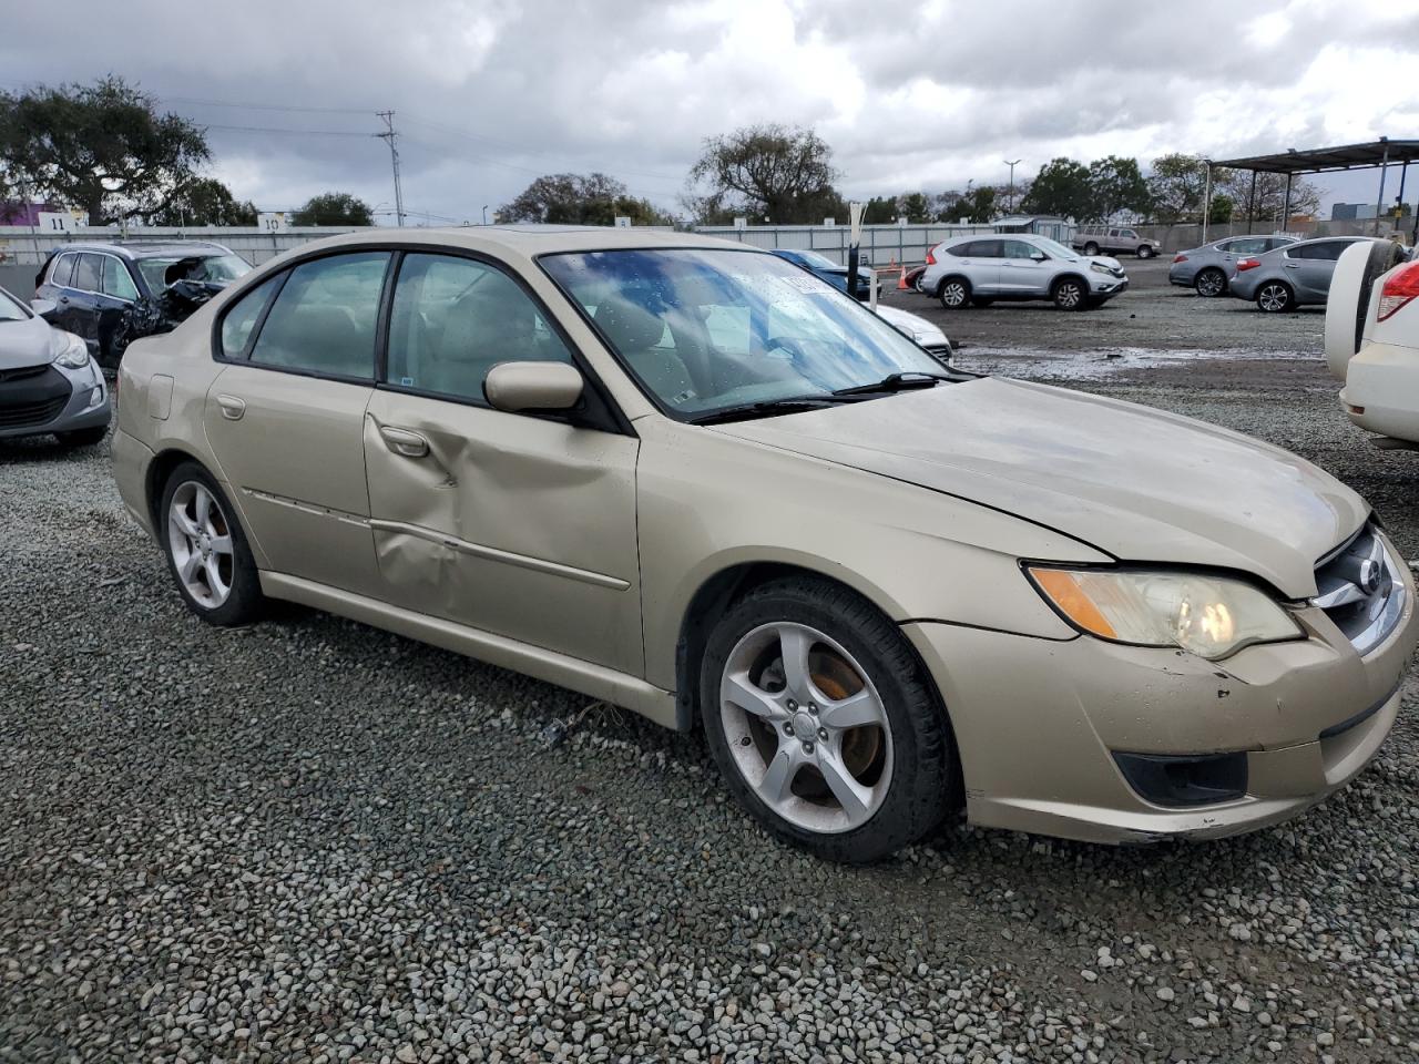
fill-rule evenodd
<path id="1" fill-rule="evenodd" d="M 1345 382 L 1340 401 L 1351 421 L 1376 433 L 1379 447 L 1419 450 L 1419 258 L 1369 241 L 1340 257 L 1325 360 Z"/>

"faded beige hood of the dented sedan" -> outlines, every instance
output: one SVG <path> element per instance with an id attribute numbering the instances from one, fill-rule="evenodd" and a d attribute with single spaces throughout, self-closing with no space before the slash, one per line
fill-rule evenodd
<path id="1" fill-rule="evenodd" d="M 1015 514 L 1120 560 L 1249 572 L 1291 599 L 1315 594 L 1317 559 L 1369 512 L 1239 433 L 998 377 L 712 431 Z"/>

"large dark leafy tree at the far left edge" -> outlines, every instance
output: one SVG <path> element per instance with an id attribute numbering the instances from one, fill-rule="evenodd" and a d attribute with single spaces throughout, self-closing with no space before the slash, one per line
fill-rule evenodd
<path id="1" fill-rule="evenodd" d="M 0 92 L 0 193 L 88 211 L 89 223 L 163 210 L 210 157 L 201 128 L 159 113 L 122 78 Z"/>

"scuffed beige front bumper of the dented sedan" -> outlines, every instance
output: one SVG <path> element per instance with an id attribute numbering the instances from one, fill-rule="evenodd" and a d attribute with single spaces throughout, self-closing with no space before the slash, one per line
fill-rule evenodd
<path id="1" fill-rule="evenodd" d="M 1219 663 L 1086 636 L 904 631 L 951 715 L 972 823 L 1095 843 L 1213 838 L 1296 816 L 1374 758 L 1419 640 L 1405 580 L 1403 614 L 1365 658 L 1314 607 L 1298 614 L 1310 638 Z M 1244 794 L 1185 809 L 1145 800 L 1114 759 L 1230 752 L 1244 753 Z"/>

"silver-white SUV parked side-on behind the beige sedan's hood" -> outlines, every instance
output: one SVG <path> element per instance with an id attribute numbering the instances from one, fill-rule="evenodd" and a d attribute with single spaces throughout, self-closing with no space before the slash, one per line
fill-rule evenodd
<path id="1" fill-rule="evenodd" d="M 955 237 L 927 253 L 918 282 L 948 311 L 996 299 L 1053 299 L 1061 311 L 1101 306 L 1128 288 L 1117 258 L 1078 255 L 1049 237 Z"/>

